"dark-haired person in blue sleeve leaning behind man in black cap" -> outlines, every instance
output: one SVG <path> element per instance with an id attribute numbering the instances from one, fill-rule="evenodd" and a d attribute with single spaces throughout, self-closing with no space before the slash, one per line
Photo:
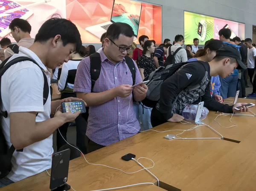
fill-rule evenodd
<path id="1" fill-rule="evenodd" d="M 189 59 L 188 62 L 196 60 L 210 62 L 216 56 L 216 51 L 223 46 L 224 44 L 220 40 L 209 40 L 209 42 L 204 46 L 204 49 L 199 49 L 194 55 L 194 58 Z M 221 82 L 219 76 L 213 76 L 211 78 L 210 86 L 212 98 L 218 102 L 223 102 L 223 98 L 221 97 L 221 92 L 219 90 L 220 87 Z"/>

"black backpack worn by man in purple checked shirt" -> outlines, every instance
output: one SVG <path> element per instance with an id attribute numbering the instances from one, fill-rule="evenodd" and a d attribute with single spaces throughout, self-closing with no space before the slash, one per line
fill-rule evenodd
<path id="1" fill-rule="evenodd" d="M 101 71 L 101 58 L 98 52 L 91 54 L 89 57 L 90 57 L 90 75 L 91 75 L 91 85 L 92 85 L 91 92 L 93 92 L 93 87 L 96 83 L 96 80 L 98 80 L 99 74 Z M 136 77 L 135 77 L 136 71 L 135 71 L 134 62 L 128 56 L 125 56 L 125 61 L 128 68 L 131 71 L 131 77 L 133 81 L 132 85 L 134 86 L 135 80 L 136 80 Z M 83 114 L 83 117 L 85 118 L 86 121 L 88 120 L 88 117 L 89 117 L 88 110 L 89 110 L 89 107 L 86 108 L 86 113 Z"/>

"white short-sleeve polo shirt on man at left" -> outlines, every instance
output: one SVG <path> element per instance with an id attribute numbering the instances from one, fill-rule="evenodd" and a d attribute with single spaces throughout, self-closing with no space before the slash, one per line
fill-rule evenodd
<path id="1" fill-rule="evenodd" d="M 19 48 L 19 54 L 15 57 L 26 56 L 34 59 L 43 68 L 50 85 L 50 73 L 38 58 L 38 56 L 28 48 Z M 2 117 L 1 123 L 3 133 L 8 146 L 10 142 L 10 113 L 11 112 L 39 112 L 35 118 L 36 122 L 50 119 L 51 97 L 50 91 L 47 102 L 43 104 L 44 76 L 42 70 L 30 61 L 23 61 L 11 66 L 2 77 L 1 95 L 2 101 L 0 109 L 8 112 L 8 117 Z M 52 161 L 52 135 L 48 138 L 33 143 L 23 149 L 23 152 L 15 151 L 12 157 L 12 171 L 8 178 L 14 182 L 23 180 L 26 177 L 41 173 L 51 168 Z"/>

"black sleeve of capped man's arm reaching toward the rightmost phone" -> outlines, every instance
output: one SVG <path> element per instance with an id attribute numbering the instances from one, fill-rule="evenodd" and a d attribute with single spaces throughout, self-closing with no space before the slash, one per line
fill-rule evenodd
<path id="1" fill-rule="evenodd" d="M 207 85 L 207 87 L 210 87 L 211 81 Z M 205 89 L 205 94 L 202 96 L 202 101 L 204 101 L 204 107 L 211 111 L 221 111 L 225 113 L 233 113 L 233 106 L 228 104 L 222 104 L 218 101 L 212 99 L 210 88 Z"/>

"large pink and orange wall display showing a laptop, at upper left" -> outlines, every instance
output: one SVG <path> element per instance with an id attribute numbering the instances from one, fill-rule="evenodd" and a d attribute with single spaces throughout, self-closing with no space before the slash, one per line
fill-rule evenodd
<path id="1" fill-rule="evenodd" d="M 33 3 L 37 5 L 31 6 Z M 21 6 L 23 9 L 4 13 Z M 0 0 L 0 39 L 9 37 L 15 42 L 9 36 L 9 23 L 14 18 L 27 20 L 34 38 L 52 14 L 75 23 L 83 43 L 100 43 L 101 35 L 115 22 L 129 24 L 134 30 L 134 39 L 147 35 L 158 44 L 162 41 L 162 7 L 133 0 Z"/>

